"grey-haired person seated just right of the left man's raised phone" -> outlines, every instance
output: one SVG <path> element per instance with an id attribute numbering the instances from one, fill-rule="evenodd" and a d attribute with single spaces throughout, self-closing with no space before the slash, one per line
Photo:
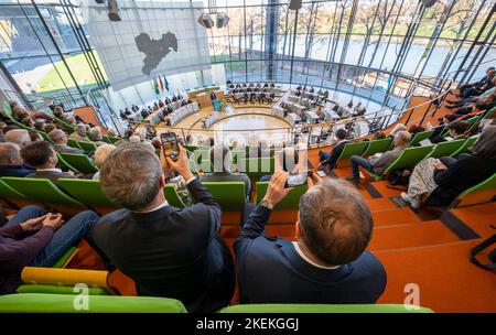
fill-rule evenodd
<path id="1" fill-rule="evenodd" d="M 209 158 L 214 171 L 201 177 L 202 182 L 244 182 L 246 197 L 251 193 L 251 181 L 245 173 L 233 173 L 233 155 L 229 148 L 217 144 L 209 150 Z"/>

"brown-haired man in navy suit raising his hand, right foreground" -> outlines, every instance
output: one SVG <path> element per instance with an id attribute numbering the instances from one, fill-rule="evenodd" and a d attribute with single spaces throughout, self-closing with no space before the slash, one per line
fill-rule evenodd
<path id="1" fill-rule="evenodd" d="M 267 236 L 271 209 L 291 190 L 288 176 L 274 173 L 235 241 L 240 303 L 375 303 L 386 272 L 365 251 L 373 217 L 345 181 L 321 181 L 301 197 L 296 241 Z"/>

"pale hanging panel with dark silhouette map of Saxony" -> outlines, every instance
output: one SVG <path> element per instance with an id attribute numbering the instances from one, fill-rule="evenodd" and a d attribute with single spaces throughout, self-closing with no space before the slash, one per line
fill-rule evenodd
<path id="1" fill-rule="evenodd" d="M 211 68 L 202 2 L 119 1 L 121 21 L 106 6 L 89 6 L 90 40 L 114 90 L 158 75 Z"/>

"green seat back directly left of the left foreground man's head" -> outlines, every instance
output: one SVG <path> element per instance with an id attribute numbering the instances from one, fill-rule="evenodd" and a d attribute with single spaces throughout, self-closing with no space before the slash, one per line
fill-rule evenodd
<path id="1" fill-rule="evenodd" d="M 88 207 L 118 207 L 101 191 L 100 181 L 60 179 L 58 183 L 69 195 Z"/>

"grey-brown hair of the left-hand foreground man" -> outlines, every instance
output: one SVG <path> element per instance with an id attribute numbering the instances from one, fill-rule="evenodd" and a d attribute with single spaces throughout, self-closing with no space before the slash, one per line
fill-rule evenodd
<path id="1" fill-rule="evenodd" d="M 143 143 L 119 144 L 100 168 L 104 193 L 116 204 L 141 210 L 157 197 L 162 168 L 160 160 Z"/>

